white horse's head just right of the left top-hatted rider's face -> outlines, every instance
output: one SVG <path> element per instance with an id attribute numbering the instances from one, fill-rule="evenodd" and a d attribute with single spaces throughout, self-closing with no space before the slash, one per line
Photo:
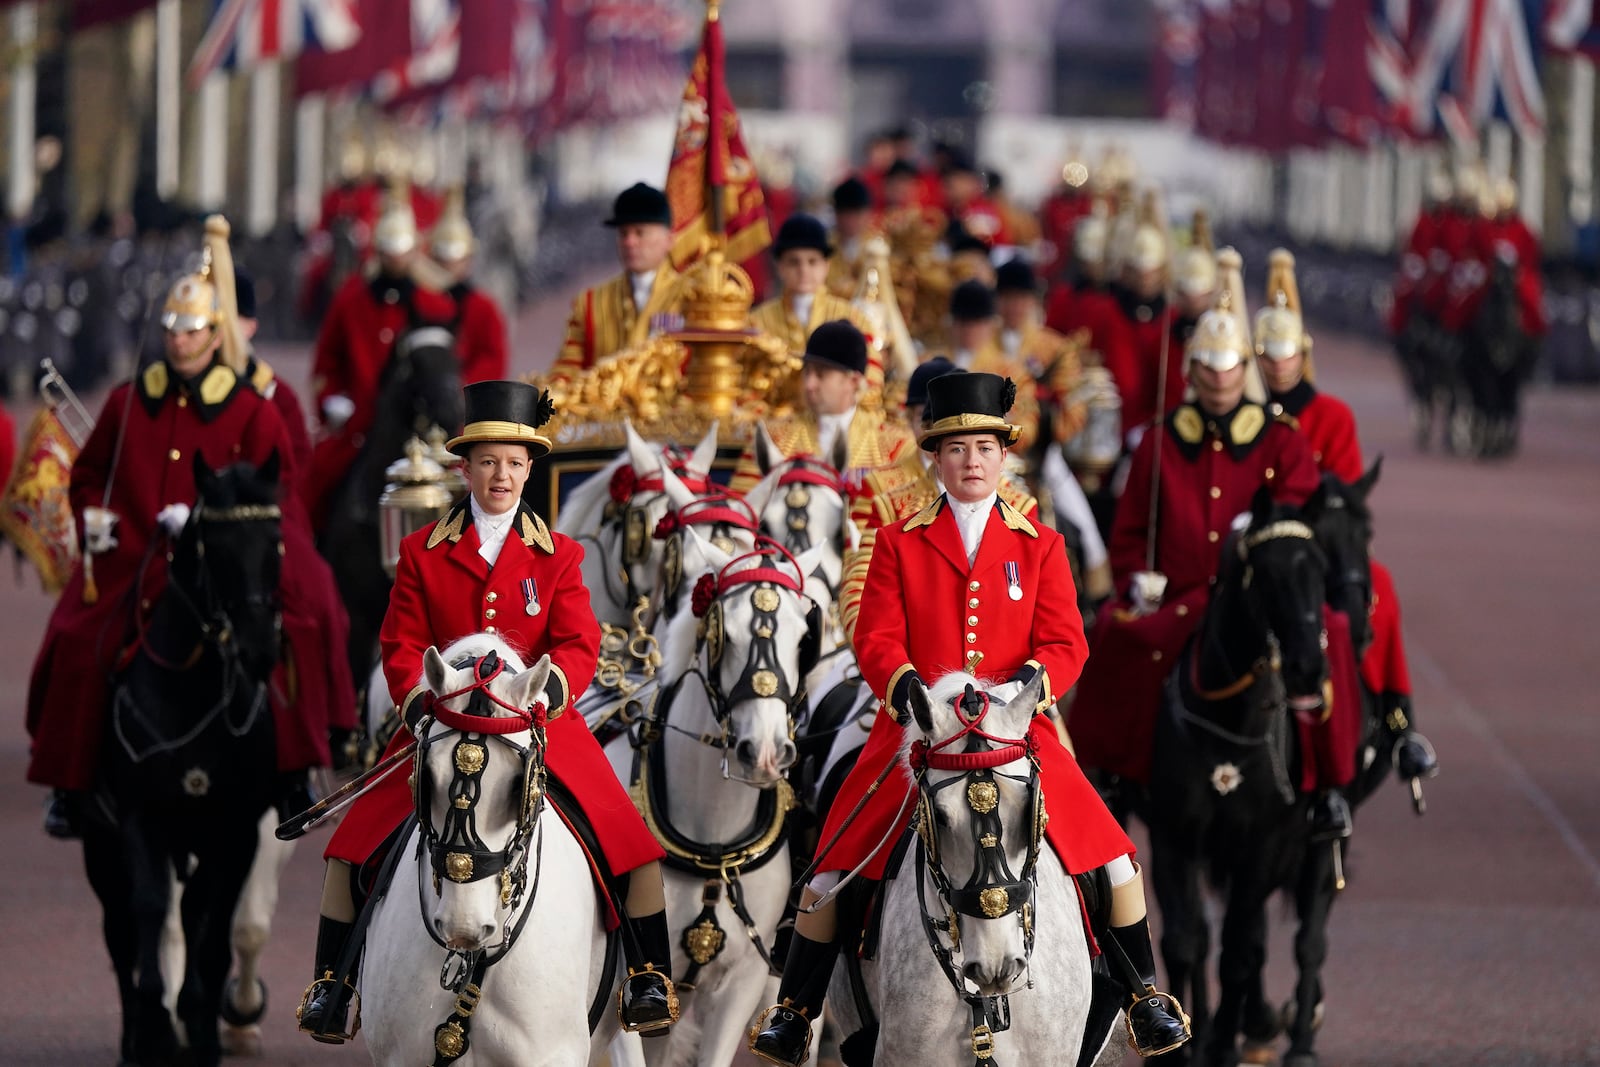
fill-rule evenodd
<path id="1" fill-rule="evenodd" d="M 674 501 L 658 472 L 677 467 L 690 478 L 685 502 L 693 499 L 693 488 L 704 488 L 717 458 L 717 424 L 686 459 L 650 445 L 630 422 L 624 422 L 624 432 L 627 446 L 618 458 L 562 501 L 555 530 L 584 545 L 582 576 L 595 617 L 627 629 L 638 597 L 650 593 L 661 574 L 662 544 L 654 531 Z"/>

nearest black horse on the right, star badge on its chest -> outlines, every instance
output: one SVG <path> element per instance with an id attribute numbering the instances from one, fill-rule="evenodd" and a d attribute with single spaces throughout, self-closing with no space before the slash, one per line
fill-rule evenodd
<path id="1" fill-rule="evenodd" d="M 1261 985 L 1266 904 L 1306 853 L 1296 713 L 1323 707 L 1328 561 L 1304 509 L 1256 494 L 1222 545 L 1216 590 L 1166 685 L 1155 725 L 1146 822 L 1170 990 L 1194 1021 L 1203 1062 L 1235 1061 L 1237 1035 L 1277 1033 Z M 1202 880 L 1226 888 L 1221 995 L 1210 1008 Z M 1174 1059 L 1187 1061 L 1187 1049 Z"/>

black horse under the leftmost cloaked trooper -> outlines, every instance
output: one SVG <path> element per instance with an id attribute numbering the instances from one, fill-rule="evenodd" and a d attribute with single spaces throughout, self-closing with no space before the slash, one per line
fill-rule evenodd
<path id="1" fill-rule="evenodd" d="M 152 545 L 170 552 L 166 587 L 139 617 L 115 681 L 99 803 L 83 827 L 125 1065 L 178 1053 L 158 958 L 174 873 L 186 941 L 178 1017 L 190 1062 L 219 1062 L 234 909 L 275 793 L 267 678 L 278 659 L 278 458 L 213 474 L 197 454 L 195 488 L 182 533 Z"/>

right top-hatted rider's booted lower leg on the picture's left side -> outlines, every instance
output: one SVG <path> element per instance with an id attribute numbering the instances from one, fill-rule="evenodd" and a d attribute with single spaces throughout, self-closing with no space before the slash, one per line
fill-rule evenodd
<path id="1" fill-rule="evenodd" d="M 778 1005 L 766 1009 L 762 1029 L 750 1033 L 750 1051 L 766 1062 L 798 1067 L 811 1056 L 811 1022 L 822 1011 L 838 957 L 838 909 L 834 901 L 814 912 L 808 909 L 837 886 L 838 878 L 837 870 L 818 875 L 800 896 L 795 937 L 778 982 Z"/>

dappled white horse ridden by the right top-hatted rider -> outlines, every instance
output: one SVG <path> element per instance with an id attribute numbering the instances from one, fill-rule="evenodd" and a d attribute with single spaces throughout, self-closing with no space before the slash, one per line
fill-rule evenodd
<path id="1" fill-rule="evenodd" d="M 1083 913 L 1043 841 L 1038 771 L 1021 744 L 1040 686 L 986 689 L 952 673 L 912 693 L 896 773 L 917 781 L 918 838 L 883 889 L 877 953 L 862 961 L 888 1021 L 880 1067 L 970 1067 L 981 1048 L 998 1064 L 1078 1062 L 1091 993 Z M 862 1027 L 843 965 L 829 1005 L 845 1033 Z M 984 1008 L 1008 1009 L 1010 1027 L 986 1025 Z M 1091 1053 L 1106 1054 L 1104 1035 Z"/>

